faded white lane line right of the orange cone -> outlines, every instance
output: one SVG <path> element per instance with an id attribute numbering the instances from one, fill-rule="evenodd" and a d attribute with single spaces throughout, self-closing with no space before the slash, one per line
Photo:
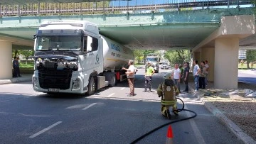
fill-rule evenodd
<path id="1" fill-rule="evenodd" d="M 184 108 L 185 108 L 185 109 L 188 109 L 188 107 L 187 107 L 186 105 L 185 105 Z M 187 115 L 188 117 L 191 117 L 191 113 L 190 113 L 189 111 L 186 111 L 186 115 Z M 196 135 L 196 139 L 198 140 L 198 143 L 206 144 L 206 142 L 203 140 L 203 136 L 202 136 L 202 134 L 200 133 L 198 127 L 196 126 L 196 122 L 193 120 L 193 118 L 192 118 L 192 119 L 189 119 L 188 121 L 189 121 L 189 123 L 191 123 L 191 127 L 192 127 L 192 129 L 193 129 L 193 131 L 194 131 L 194 133 L 195 133 L 195 135 Z"/>

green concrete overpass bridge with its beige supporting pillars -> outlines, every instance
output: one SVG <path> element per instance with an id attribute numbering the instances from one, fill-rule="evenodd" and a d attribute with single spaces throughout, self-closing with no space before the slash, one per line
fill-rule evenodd
<path id="1" fill-rule="evenodd" d="M 5 0 L 4 0 L 5 1 Z M 215 88 L 238 87 L 238 48 L 255 47 L 252 9 L 194 9 L 150 13 L 0 18 L 0 79 L 11 77 L 11 49 L 33 48 L 33 34 L 42 21 L 86 20 L 100 33 L 131 49 L 191 49 L 195 60 L 210 62 L 209 80 Z"/>

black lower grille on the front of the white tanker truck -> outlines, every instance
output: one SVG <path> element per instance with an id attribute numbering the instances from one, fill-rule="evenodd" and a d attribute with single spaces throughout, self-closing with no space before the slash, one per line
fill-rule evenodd
<path id="1" fill-rule="evenodd" d="M 43 89 L 69 89 L 72 71 L 70 70 L 39 70 L 38 78 Z"/>

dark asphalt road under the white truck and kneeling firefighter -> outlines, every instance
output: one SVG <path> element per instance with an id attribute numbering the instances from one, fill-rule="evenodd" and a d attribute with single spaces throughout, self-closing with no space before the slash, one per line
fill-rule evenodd
<path id="1" fill-rule="evenodd" d="M 131 143 L 170 122 L 161 116 L 156 95 L 165 72 L 168 70 L 154 75 L 154 92 L 144 93 L 144 70 L 139 69 L 135 80 L 137 95 L 133 97 L 127 97 L 127 82 L 92 96 L 50 96 L 33 92 L 31 82 L 0 85 L 0 143 Z M 180 96 L 186 109 L 196 111 L 198 116 L 171 124 L 174 143 L 242 143 L 195 97 Z M 181 111 L 179 116 L 172 114 L 171 121 L 192 115 Z M 167 128 L 139 143 L 165 143 Z"/>

